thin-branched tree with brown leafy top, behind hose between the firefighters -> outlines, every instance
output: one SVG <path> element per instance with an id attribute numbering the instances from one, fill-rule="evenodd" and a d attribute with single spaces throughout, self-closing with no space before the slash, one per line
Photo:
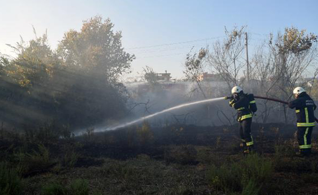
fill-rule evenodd
<path id="1" fill-rule="evenodd" d="M 273 78 L 275 84 L 272 88 L 274 97 L 289 100 L 293 89 L 299 83 L 304 71 L 315 59 L 317 53 L 317 35 L 305 34 L 305 30 L 295 27 L 285 28 L 284 34 L 278 33 L 276 39 L 269 41 L 271 63 L 274 64 Z M 287 113 L 283 105 L 285 122 Z"/>

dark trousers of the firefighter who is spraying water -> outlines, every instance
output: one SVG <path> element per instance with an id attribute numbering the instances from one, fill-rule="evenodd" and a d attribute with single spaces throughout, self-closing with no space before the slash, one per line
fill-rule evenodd
<path id="1" fill-rule="evenodd" d="M 251 151 L 254 145 L 253 138 L 251 136 L 251 125 L 252 118 L 246 118 L 239 122 L 239 135 L 249 151 Z"/>

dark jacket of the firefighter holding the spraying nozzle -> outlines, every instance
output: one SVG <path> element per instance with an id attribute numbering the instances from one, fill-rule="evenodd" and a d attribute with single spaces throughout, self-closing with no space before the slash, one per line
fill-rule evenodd
<path id="1" fill-rule="evenodd" d="M 229 103 L 238 111 L 239 122 L 252 117 L 252 112 L 250 111 L 250 99 L 247 94 L 242 94 L 238 100 L 232 99 Z M 255 103 L 255 100 L 253 100 L 252 103 Z"/>

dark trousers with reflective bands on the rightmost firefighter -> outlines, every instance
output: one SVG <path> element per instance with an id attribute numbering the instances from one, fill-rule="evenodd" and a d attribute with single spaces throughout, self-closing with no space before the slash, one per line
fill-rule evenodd
<path id="1" fill-rule="evenodd" d="M 313 127 L 297 127 L 297 139 L 299 144 L 300 153 L 311 153 L 311 133 Z"/>

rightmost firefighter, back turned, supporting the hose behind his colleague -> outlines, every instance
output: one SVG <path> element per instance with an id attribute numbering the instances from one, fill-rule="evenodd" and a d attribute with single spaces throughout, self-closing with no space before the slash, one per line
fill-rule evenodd
<path id="1" fill-rule="evenodd" d="M 317 106 L 312 98 L 302 87 L 296 87 L 293 91 L 295 100 L 288 103 L 288 107 L 296 109 L 297 139 L 299 144 L 298 156 L 311 154 L 311 133 L 315 126 L 314 110 Z"/>

